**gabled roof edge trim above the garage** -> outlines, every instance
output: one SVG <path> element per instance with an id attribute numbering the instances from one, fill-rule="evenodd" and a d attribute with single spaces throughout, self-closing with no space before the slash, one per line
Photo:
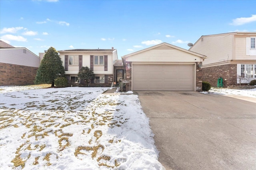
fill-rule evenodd
<path id="1" fill-rule="evenodd" d="M 183 51 L 183 52 L 185 52 L 185 53 L 189 53 L 189 54 L 192 54 L 192 55 L 196 55 L 196 56 L 198 56 L 198 57 L 201 57 L 202 59 L 205 59 L 205 58 L 206 58 L 205 55 L 198 54 L 198 53 L 195 53 L 195 52 L 193 52 L 193 51 L 188 51 L 188 50 L 186 50 L 186 49 L 177 47 L 177 46 L 175 46 L 175 45 L 171 45 L 171 44 L 169 44 L 169 43 L 161 43 L 161 44 L 154 45 L 154 46 L 152 46 L 152 47 L 149 47 L 149 48 L 146 48 L 146 49 L 143 49 L 143 50 L 134 52 L 134 53 L 130 53 L 130 54 L 128 54 L 128 55 L 124 55 L 124 56 L 122 57 L 123 63 L 124 63 L 124 65 L 125 65 L 124 59 L 126 59 L 127 57 L 130 57 L 130 56 L 133 56 L 133 55 L 136 55 L 136 54 L 139 54 L 139 53 L 143 53 L 143 52 L 145 52 L 145 51 L 148 51 L 148 50 L 151 50 L 151 49 L 160 47 L 160 46 L 162 46 L 162 45 L 167 45 L 167 46 L 172 47 L 172 48 L 174 48 L 174 49 Z"/>

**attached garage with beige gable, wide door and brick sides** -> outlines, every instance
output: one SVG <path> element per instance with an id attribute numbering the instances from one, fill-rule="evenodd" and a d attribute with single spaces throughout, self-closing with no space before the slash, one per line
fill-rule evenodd
<path id="1" fill-rule="evenodd" d="M 202 61 L 206 56 L 161 43 L 122 57 L 126 89 L 202 91 Z M 131 84 L 131 87 L 130 87 Z"/>

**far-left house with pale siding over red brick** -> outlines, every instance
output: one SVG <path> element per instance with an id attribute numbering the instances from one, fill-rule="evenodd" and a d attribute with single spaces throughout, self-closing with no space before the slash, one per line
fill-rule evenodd
<path id="1" fill-rule="evenodd" d="M 34 84 L 40 58 L 26 49 L 0 41 L 0 86 Z"/>

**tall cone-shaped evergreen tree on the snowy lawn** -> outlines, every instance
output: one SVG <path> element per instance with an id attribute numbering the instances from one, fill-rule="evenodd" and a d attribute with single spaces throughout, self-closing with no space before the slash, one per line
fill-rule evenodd
<path id="1" fill-rule="evenodd" d="M 62 66 L 60 55 L 54 47 L 50 47 L 44 54 L 40 66 L 36 72 L 35 84 L 51 83 L 54 87 L 54 80 L 64 77 L 65 69 Z"/>

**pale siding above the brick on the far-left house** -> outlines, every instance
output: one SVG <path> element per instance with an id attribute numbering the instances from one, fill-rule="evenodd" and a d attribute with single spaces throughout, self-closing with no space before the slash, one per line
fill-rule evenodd
<path id="1" fill-rule="evenodd" d="M 40 57 L 26 48 L 0 49 L 0 63 L 39 67 Z"/>

